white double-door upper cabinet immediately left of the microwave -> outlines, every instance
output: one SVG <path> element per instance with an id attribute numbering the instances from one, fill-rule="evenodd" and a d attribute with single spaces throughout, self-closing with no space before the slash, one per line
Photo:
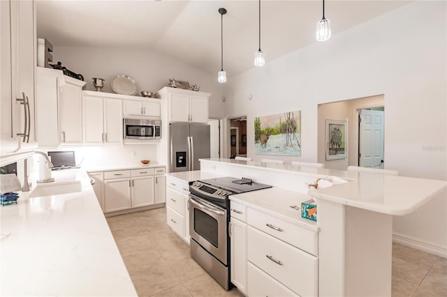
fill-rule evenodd
<path id="1" fill-rule="evenodd" d="M 82 96 L 84 144 L 122 144 L 122 100 Z"/>

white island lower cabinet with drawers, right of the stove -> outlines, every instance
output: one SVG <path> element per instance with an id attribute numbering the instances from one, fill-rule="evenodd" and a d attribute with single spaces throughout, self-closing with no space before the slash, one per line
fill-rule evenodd
<path id="1" fill-rule="evenodd" d="M 310 232 L 310 243 L 295 241 L 301 232 Z M 268 210 L 230 200 L 230 280 L 247 296 L 318 296 L 317 252 L 308 252 L 318 250 L 317 238 Z"/>

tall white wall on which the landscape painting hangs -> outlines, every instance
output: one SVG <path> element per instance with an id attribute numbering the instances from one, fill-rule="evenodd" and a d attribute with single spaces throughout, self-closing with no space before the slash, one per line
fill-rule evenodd
<path id="1" fill-rule="evenodd" d="M 387 168 L 447 180 L 446 2 L 416 1 L 340 33 L 332 27 L 328 41 L 229 77 L 226 115 L 248 115 L 248 156 L 261 159 L 254 117 L 301 110 L 302 155 L 293 159 L 316 162 L 318 104 L 384 94 Z M 447 255 L 446 192 L 396 217 L 393 230 Z"/>

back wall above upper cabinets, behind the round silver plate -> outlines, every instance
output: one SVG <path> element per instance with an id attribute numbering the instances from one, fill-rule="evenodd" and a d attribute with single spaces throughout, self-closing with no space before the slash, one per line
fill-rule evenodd
<path id="1" fill-rule="evenodd" d="M 193 68 L 186 63 L 145 49 L 100 48 L 100 47 L 54 47 L 53 61 L 61 61 L 68 70 L 80 73 L 87 85 L 86 90 L 96 91 L 92 77 L 105 79 L 101 91 L 115 93 L 110 81 L 115 75 L 124 74 L 133 78 L 140 91 L 159 91 L 167 86 L 169 79 L 184 80 L 200 86 L 200 91 L 212 93 L 210 117 L 221 118 L 224 114 L 222 85 L 215 75 Z"/>

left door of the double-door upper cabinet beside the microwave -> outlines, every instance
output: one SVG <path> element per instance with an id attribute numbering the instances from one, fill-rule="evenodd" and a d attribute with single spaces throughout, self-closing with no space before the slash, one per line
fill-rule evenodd
<path id="1" fill-rule="evenodd" d="M 84 96 L 84 142 L 103 144 L 103 98 Z"/>

